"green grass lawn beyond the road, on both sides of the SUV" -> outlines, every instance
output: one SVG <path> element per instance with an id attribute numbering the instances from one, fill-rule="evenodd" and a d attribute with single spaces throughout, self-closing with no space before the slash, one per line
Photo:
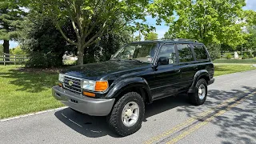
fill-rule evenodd
<path id="1" fill-rule="evenodd" d="M 0 66 L 0 119 L 63 106 L 51 96 L 51 87 L 58 84 L 57 72 L 19 68 Z M 214 76 L 254 69 L 249 65 L 218 65 Z"/>

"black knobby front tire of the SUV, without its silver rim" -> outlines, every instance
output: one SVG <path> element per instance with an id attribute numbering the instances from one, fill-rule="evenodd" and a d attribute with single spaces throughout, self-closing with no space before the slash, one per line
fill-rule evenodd
<path id="1" fill-rule="evenodd" d="M 133 126 L 125 126 L 122 122 L 122 110 L 128 102 L 136 102 L 139 107 L 139 116 L 136 123 Z M 134 134 L 142 126 L 142 120 L 145 114 L 145 104 L 140 94 L 136 92 L 129 92 L 124 94 L 114 104 L 113 110 L 107 116 L 107 122 L 112 130 L 121 136 L 127 136 Z"/>

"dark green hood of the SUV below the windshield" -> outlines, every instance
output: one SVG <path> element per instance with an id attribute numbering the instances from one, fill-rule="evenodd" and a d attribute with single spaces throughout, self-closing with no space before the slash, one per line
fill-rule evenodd
<path id="1" fill-rule="evenodd" d="M 62 70 L 62 74 L 77 78 L 97 79 L 107 74 L 124 71 L 137 71 L 138 67 L 150 66 L 149 63 L 142 63 L 133 60 L 110 60 L 107 62 L 89 63 L 82 66 L 71 66 Z"/>

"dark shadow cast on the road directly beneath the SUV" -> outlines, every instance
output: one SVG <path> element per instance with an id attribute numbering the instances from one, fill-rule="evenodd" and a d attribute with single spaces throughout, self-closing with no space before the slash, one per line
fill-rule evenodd
<path id="1" fill-rule="evenodd" d="M 160 114 L 166 110 L 171 110 L 177 106 L 190 106 L 187 102 L 187 95 L 180 94 L 176 97 L 163 98 L 153 102 L 150 105 L 146 105 L 146 118 L 150 118 L 155 114 Z M 114 138 L 119 138 L 106 123 L 106 117 L 94 117 L 86 114 L 80 114 L 74 112 L 70 108 L 59 110 L 54 114 L 61 122 L 66 126 L 70 126 L 71 129 L 78 133 L 90 138 L 98 138 L 105 135 L 110 135 Z"/>

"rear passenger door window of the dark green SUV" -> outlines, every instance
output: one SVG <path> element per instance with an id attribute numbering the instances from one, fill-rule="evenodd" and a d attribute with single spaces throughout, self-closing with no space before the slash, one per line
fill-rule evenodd
<path id="1" fill-rule="evenodd" d="M 194 61 L 190 46 L 187 44 L 177 44 L 179 62 Z"/>

